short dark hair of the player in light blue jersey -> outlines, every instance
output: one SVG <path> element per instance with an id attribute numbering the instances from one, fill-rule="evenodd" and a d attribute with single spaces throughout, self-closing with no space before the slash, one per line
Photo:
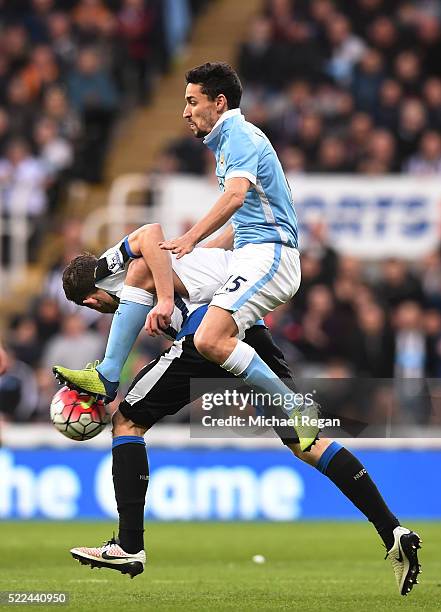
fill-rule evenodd
<path id="1" fill-rule="evenodd" d="M 242 98 L 242 84 L 237 73 L 225 62 L 207 62 L 189 70 L 185 79 L 188 83 L 201 85 L 202 93 L 215 100 L 220 94 L 227 99 L 228 108 L 238 108 Z"/>

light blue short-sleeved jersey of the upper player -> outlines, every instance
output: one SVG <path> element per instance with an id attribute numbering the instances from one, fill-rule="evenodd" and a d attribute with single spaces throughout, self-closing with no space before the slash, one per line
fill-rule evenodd
<path id="1" fill-rule="evenodd" d="M 245 177 L 251 182 L 243 206 L 231 218 L 234 248 L 250 242 L 278 242 L 297 248 L 291 189 L 265 134 L 234 108 L 221 115 L 204 143 L 216 156 L 221 191 L 230 178 Z"/>

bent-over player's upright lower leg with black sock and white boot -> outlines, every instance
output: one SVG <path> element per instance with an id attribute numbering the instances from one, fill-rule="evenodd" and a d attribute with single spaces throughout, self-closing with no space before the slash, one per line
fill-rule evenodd
<path id="1" fill-rule="evenodd" d="M 134 578 L 144 571 L 144 504 L 149 466 L 143 435 L 117 411 L 113 416 L 112 473 L 119 514 L 118 538 L 103 546 L 78 547 L 71 555 L 83 565 L 106 567 Z"/>

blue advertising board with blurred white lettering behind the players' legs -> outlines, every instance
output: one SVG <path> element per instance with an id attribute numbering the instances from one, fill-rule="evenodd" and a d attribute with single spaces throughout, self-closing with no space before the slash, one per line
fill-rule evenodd
<path id="1" fill-rule="evenodd" d="M 441 519 L 441 452 L 369 450 L 357 456 L 395 514 Z M 149 448 L 149 461 L 148 519 L 363 518 L 332 482 L 287 449 Z M 114 517 L 110 452 L 0 450 L 0 519 Z"/>

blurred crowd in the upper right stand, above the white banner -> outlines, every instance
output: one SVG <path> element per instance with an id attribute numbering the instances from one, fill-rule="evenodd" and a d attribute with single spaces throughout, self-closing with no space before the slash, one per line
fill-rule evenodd
<path id="1" fill-rule="evenodd" d="M 441 172 L 439 0 L 267 0 L 237 56 L 242 110 L 287 172 Z M 203 174 L 200 142 L 159 169 Z"/>

